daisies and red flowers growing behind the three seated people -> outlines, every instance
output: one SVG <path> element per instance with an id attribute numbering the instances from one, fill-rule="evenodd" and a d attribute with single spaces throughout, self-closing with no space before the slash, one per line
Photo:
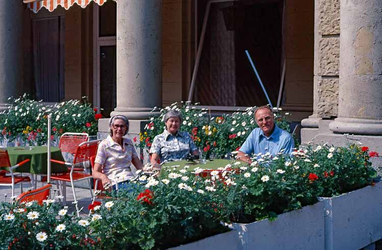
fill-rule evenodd
<path id="1" fill-rule="evenodd" d="M 159 110 L 159 116 L 150 118 L 145 131 L 140 133 L 139 146 L 148 151 L 155 135 L 165 129 L 163 117 L 170 109 L 175 109 L 182 115 L 181 131 L 187 131 L 192 136 L 194 143 L 203 154 L 208 157 L 224 158 L 230 152 L 240 147 L 251 131 L 258 127 L 254 120 L 255 107 L 247 108 L 244 112 L 235 112 L 230 115 L 211 116 L 207 109 L 197 109 L 188 103 L 173 103 Z M 275 113 L 275 123 L 282 129 L 290 131 L 289 122 L 284 116 Z M 138 140 L 137 140 L 138 141 Z"/>

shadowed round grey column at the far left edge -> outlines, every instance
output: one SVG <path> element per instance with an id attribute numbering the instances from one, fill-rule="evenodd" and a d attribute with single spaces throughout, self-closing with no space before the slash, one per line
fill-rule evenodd
<path id="1" fill-rule="evenodd" d="M 0 111 L 23 84 L 23 3 L 0 1 Z"/>

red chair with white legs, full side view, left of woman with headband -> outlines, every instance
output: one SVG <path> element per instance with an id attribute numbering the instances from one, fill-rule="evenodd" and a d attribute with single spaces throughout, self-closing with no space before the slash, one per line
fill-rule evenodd
<path id="1" fill-rule="evenodd" d="M 92 175 L 83 173 L 83 172 L 74 172 L 74 165 L 79 162 L 86 162 L 90 160 L 90 157 L 95 156 L 97 154 L 97 148 L 98 144 L 101 140 L 91 141 L 91 142 L 83 142 L 80 145 L 78 145 L 75 154 L 73 162 L 64 162 L 60 160 L 50 160 L 51 162 L 56 162 L 59 164 L 63 164 L 65 166 L 70 167 L 70 172 L 63 173 L 63 174 L 57 174 L 52 175 L 50 178 L 52 180 L 57 180 L 60 185 L 60 189 L 62 189 L 62 194 L 64 196 L 64 203 L 66 202 L 66 185 L 61 185 L 62 182 L 70 182 L 72 186 L 73 191 L 73 197 L 74 197 L 74 204 L 77 211 L 77 216 L 79 216 L 79 210 L 77 205 L 77 198 L 75 196 L 75 189 L 74 189 L 74 182 L 80 181 L 80 180 L 88 180 L 89 181 L 89 189 L 91 193 L 91 197 L 93 197 L 92 187 L 90 178 L 92 178 Z"/>

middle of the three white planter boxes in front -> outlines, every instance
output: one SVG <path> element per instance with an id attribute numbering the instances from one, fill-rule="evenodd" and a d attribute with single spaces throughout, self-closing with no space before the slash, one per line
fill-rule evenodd
<path id="1" fill-rule="evenodd" d="M 244 250 L 324 249 L 322 202 L 250 224 L 233 224 Z M 216 248 L 217 249 L 217 248 Z M 345 249 L 345 248 L 344 248 Z"/>

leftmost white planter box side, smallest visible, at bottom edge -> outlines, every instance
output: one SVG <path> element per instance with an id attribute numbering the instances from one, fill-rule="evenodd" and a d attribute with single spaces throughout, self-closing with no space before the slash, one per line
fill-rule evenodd
<path id="1" fill-rule="evenodd" d="M 241 241 L 235 230 L 227 233 L 217 234 L 185 245 L 169 248 L 171 250 L 242 250 Z M 260 249 L 260 248 L 259 248 Z"/>

